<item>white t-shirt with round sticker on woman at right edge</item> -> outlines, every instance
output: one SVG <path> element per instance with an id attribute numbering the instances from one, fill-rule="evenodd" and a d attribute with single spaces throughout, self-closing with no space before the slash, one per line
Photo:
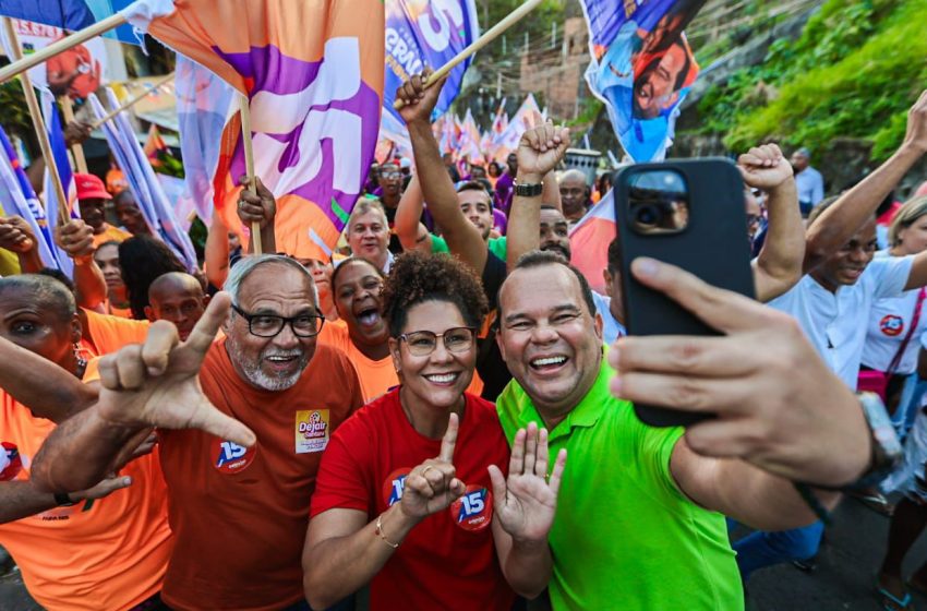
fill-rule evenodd
<path id="1" fill-rule="evenodd" d="M 876 257 L 891 256 L 888 251 L 876 253 Z M 914 307 L 920 289 L 906 290 L 901 297 L 879 299 L 872 304 L 872 314 L 866 330 L 866 346 L 863 348 L 863 364 L 878 371 L 888 371 L 901 343 L 911 330 L 914 321 Z M 911 336 L 904 355 L 899 361 L 895 373 L 906 375 L 917 369 L 918 339 L 927 330 L 927 300 L 920 306 L 920 320 Z"/>

